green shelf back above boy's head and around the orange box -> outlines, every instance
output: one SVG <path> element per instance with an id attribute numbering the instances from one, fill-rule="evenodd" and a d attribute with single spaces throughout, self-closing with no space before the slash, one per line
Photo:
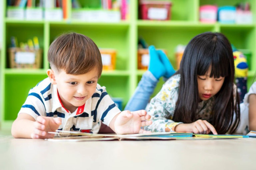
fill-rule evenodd
<path id="1" fill-rule="evenodd" d="M 91 38 L 99 48 L 116 49 L 116 69 L 128 70 L 129 68 L 129 35 L 127 25 L 58 25 L 50 24 L 50 42 L 58 35 L 65 32 L 77 32 Z"/>

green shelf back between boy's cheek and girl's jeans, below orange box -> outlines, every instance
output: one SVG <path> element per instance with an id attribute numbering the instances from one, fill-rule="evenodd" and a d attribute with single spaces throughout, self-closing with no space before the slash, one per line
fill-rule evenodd
<path id="1" fill-rule="evenodd" d="M 105 86 L 110 97 L 122 98 L 123 108 L 129 100 L 129 77 L 128 76 L 101 76 L 98 83 Z"/>

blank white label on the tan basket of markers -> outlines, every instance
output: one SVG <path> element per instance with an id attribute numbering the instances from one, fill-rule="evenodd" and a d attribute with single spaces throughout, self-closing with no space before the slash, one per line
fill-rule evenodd
<path id="1" fill-rule="evenodd" d="M 35 57 L 36 55 L 34 52 L 16 52 L 15 62 L 18 64 L 34 64 Z"/>

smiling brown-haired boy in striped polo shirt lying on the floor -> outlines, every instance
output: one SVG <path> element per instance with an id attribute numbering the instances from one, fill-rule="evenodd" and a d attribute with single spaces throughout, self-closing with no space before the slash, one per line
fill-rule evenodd
<path id="1" fill-rule="evenodd" d="M 145 133 L 152 121 L 146 111 L 121 112 L 97 84 L 102 72 L 101 54 L 88 37 L 69 33 L 49 47 L 51 69 L 29 95 L 12 125 L 15 138 L 44 139 L 56 129 L 97 133 L 100 121 L 118 134 Z"/>

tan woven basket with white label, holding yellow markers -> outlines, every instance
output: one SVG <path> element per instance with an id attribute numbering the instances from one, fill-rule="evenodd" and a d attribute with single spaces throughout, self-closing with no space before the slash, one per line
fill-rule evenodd
<path id="1" fill-rule="evenodd" d="M 10 68 L 41 68 L 42 49 L 9 48 Z"/>

